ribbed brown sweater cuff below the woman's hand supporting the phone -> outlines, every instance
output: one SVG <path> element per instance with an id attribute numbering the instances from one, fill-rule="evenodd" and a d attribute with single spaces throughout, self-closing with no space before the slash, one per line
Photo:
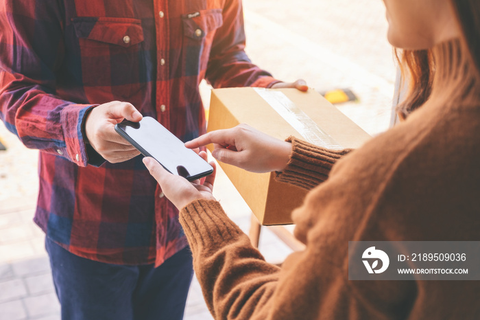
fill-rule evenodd
<path id="1" fill-rule="evenodd" d="M 180 210 L 179 220 L 194 253 L 199 249 L 215 249 L 217 244 L 224 246 L 243 234 L 217 201 L 195 200 Z"/>

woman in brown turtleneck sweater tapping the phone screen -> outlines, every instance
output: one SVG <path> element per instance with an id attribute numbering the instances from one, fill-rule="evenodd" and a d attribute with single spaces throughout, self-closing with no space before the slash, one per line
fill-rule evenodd
<path id="1" fill-rule="evenodd" d="M 480 238 L 480 2 L 384 2 L 389 41 L 403 49 L 413 81 L 400 106 L 405 122 L 347 155 L 248 126 L 187 143 L 213 143 L 219 161 L 275 170 L 278 180 L 311 189 L 293 212 L 306 249 L 282 268 L 227 218 L 211 194 L 213 176 L 190 184 L 145 158 L 181 209 L 215 319 L 480 319 L 475 281 L 348 280 L 348 241 Z"/>

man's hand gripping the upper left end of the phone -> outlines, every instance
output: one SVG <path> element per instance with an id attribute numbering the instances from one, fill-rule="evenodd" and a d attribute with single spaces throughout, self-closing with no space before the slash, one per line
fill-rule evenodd
<path id="1" fill-rule="evenodd" d="M 85 133 L 88 142 L 110 163 L 127 161 L 140 155 L 115 131 L 115 124 L 123 119 L 139 122 L 142 115 L 128 102 L 112 101 L 93 108 L 86 117 Z"/>

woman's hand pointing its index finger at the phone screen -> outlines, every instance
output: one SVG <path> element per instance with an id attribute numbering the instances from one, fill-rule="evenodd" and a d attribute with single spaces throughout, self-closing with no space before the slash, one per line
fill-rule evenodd
<path id="1" fill-rule="evenodd" d="M 291 154 L 291 144 L 270 137 L 246 124 L 216 130 L 185 144 L 198 148 L 213 144 L 213 157 L 251 172 L 283 171 Z"/>

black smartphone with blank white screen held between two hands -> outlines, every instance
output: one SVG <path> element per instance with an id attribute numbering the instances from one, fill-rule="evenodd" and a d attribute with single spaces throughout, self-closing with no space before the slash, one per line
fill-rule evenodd
<path id="1" fill-rule="evenodd" d="M 188 181 L 213 172 L 208 162 L 152 117 L 143 117 L 140 122 L 123 120 L 115 125 L 115 131 L 142 155 L 156 159 L 163 168 Z"/>

